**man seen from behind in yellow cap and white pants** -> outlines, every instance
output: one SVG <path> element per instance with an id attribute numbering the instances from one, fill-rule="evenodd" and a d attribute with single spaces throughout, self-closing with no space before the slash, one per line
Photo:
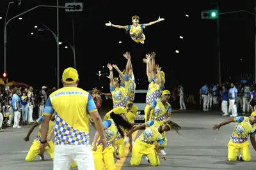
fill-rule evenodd
<path id="1" fill-rule="evenodd" d="M 68 67 L 63 71 L 63 88 L 52 92 L 47 99 L 44 118 L 41 125 L 40 152 L 49 146 L 47 143 L 47 129 L 51 115 L 56 111 L 54 170 L 68 170 L 72 160 L 79 170 L 94 170 L 93 154 L 89 139 L 88 113 L 95 122 L 100 134 L 103 150 L 106 139 L 102 120 L 92 99 L 92 96 L 77 87 L 79 78 L 76 69 Z"/>

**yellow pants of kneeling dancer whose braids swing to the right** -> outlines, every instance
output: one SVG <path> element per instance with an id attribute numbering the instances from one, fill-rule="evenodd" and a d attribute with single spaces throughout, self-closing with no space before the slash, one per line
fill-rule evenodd
<path id="1" fill-rule="evenodd" d="M 140 165 L 141 158 L 143 155 L 146 155 L 148 157 L 151 166 L 160 165 L 160 160 L 157 156 L 155 145 L 147 145 L 140 141 L 140 139 L 136 139 L 132 147 L 131 166 Z"/>

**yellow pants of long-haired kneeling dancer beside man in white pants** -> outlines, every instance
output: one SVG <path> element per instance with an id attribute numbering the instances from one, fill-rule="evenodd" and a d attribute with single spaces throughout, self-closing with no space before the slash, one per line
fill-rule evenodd
<path id="1" fill-rule="evenodd" d="M 93 145 L 92 145 L 93 146 Z M 115 149 L 113 146 L 108 146 L 102 152 L 102 145 L 97 146 L 97 150 L 93 151 L 93 160 L 95 165 L 95 170 L 102 170 L 104 169 L 104 164 L 106 170 L 115 170 L 115 160 L 114 160 L 114 153 Z"/>

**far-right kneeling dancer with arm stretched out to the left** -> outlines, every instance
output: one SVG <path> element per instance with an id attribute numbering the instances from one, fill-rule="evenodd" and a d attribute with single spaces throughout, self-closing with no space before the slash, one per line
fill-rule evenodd
<path id="1" fill-rule="evenodd" d="M 235 117 L 225 120 L 221 124 L 213 125 L 212 129 L 219 130 L 221 126 L 230 124 L 232 122 L 236 122 L 237 124 L 228 142 L 228 160 L 243 160 L 248 162 L 251 160 L 249 148 L 250 143 L 248 138 L 250 138 L 252 146 L 254 150 L 256 150 L 256 111 L 254 111 L 250 117 Z M 239 152 L 241 155 L 238 156 Z"/>

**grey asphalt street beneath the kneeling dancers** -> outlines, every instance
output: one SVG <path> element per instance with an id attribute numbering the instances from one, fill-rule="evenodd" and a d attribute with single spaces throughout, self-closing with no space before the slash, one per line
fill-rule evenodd
<path id="1" fill-rule="evenodd" d="M 182 127 L 182 135 L 175 131 L 167 134 L 168 144 L 165 148 L 167 159 L 161 160 L 161 169 L 256 169 L 256 152 L 251 147 L 251 162 L 228 162 L 227 143 L 236 124 L 221 127 L 220 131 L 212 131 L 212 124 L 218 124 L 227 117 L 221 117 L 219 113 L 202 113 L 195 111 L 174 112 L 173 121 Z M 1 170 L 48 170 L 52 169 L 52 160 L 45 153 L 45 161 L 39 157 L 34 162 L 25 162 L 31 142 L 36 138 L 37 129 L 31 134 L 31 141 L 25 143 L 23 138 L 29 130 L 29 125 L 20 129 L 8 128 L 0 132 L 0 169 Z M 95 131 L 90 129 L 90 139 L 93 139 Z M 137 136 L 141 134 L 138 132 Z M 118 169 L 154 169 L 145 159 L 141 165 L 131 167 L 130 153 L 125 159 L 116 162 Z M 74 168 L 76 169 L 76 168 Z"/>

